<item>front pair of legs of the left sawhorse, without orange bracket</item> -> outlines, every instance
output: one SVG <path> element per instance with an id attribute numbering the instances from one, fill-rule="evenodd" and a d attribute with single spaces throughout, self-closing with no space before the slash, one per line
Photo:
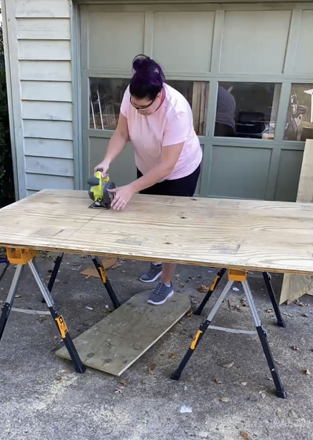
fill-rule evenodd
<path id="1" fill-rule="evenodd" d="M 22 261 L 22 258 L 21 258 Z M 47 307 L 51 313 L 51 316 L 60 332 L 61 338 L 63 339 L 66 348 L 68 349 L 68 353 L 71 356 L 72 362 L 74 364 L 75 370 L 77 373 L 83 373 L 86 368 L 84 367 L 81 359 L 79 358 L 79 354 L 77 353 L 77 350 L 73 344 L 72 338 L 68 332 L 68 328 L 65 324 L 65 320 L 60 312 L 58 312 L 58 309 L 56 308 L 56 305 L 54 304 L 53 298 L 51 297 L 51 294 L 47 288 L 46 283 L 43 280 L 43 276 L 41 275 L 36 261 L 33 257 L 33 259 L 30 259 L 27 262 L 22 262 L 22 264 L 18 264 L 17 268 L 15 270 L 15 274 L 11 283 L 11 287 L 9 290 L 9 293 L 7 295 L 7 300 L 5 301 L 2 312 L 0 316 L 0 340 L 4 332 L 5 325 L 7 323 L 7 319 L 10 315 L 11 308 L 14 301 L 14 296 L 16 293 L 16 290 L 18 288 L 18 283 L 21 279 L 22 271 L 24 269 L 25 264 L 29 265 L 30 270 L 32 271 L 32 275 L 34 276 L 34 279 L 37 283 L 37 286 L 40 289 L 41 294 L 43 295 L 43 298 L 47 304 Z"/>

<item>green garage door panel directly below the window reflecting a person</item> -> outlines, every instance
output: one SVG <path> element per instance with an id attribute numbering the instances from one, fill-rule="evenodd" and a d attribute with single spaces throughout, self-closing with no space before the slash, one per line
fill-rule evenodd
<path id="1" fill-rule="evenodd" d="M 270 148 L 213 145 L 209 196 L 264 199 Z"/>

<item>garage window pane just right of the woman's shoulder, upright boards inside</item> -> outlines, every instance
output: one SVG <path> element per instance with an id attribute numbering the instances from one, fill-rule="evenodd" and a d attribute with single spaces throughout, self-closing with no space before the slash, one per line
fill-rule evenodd
<path id="1" fill-rule="evenodd" d="M 206 111 L 208 106 L 209 83 L 205 81 L 168 80 L 167 84 L 176 88 L 191 106 L 194 129 L 197 135 L 205 135 Z"/>

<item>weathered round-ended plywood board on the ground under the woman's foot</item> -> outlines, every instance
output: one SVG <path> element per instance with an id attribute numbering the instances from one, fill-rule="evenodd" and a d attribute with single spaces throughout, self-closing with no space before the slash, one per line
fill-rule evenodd
<path id="1" fill-rule="evenodd" d="M 120 376 L 190 309 L 181 293 L 158 306 L 147 303 L 149 293 L 137 293 L 74 339 L 84 365 Z M 65 347 L 56 354 L 70 359 Z"/>

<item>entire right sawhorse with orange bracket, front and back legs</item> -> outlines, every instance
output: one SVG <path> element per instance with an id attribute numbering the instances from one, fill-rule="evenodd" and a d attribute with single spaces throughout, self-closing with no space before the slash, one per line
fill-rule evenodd
<path id="1" fill-rule="evenodd" d="M 220 279 L 223 277 L 225 272 L 226 272 L 226 269 L 221 269 L 218 272 L 209 292 L 207 293 L 204 300 L 201 302 L 200 306 L 198 307 L 197 311 L 195 312 L 196 315 L 201 314 L 205 304 L 209 300 L 213 291 L 216 289 L 216 286 L 218 285 Z M 273 287 L 270 282 L 270 275 L 267 272 L 263 272 L 263 278 L 264 278 L 264 281 L 266 284 L 266 289 L 270 295 L 270 300 L 273 304 L 274 312 L 277 317 L 277 325 L 280 327 L 284 327 L 285 324 L 284 324 L 284 321 L 281 317 L 281 312 L 279 310 L 279 307 L 278 307 L 278 304 L 277 304 L 277 301 L 276 301 L 276 298 L 275 298 L 275 295 L 273 292 Z M 233 285 L 234 281 L 241 282 L 241 285 L 242 285 L 243 290 L 245 292 L 245 297 L 248 302 L 248 306 L 250 308 L 250 312 L 252 314 L 252 318 L 253 318 L 253 321 L 255 324 L 256 331 L 229 329 L 226 327 L 216 327 L 216 326 L 210 325 L 212 322 L 212 319 L 214 318 L 220 305 L 224 301 L 227 293 L 230 291 L 231 286 Z M 267 341 L 266 330 L 263 328 L 263 326 L 261 324 L 258 312 L 256 311 L 256 308 L 255 308 L 255 305 L 253 302 L 252 293 L 251 293 L 250 286 L 249 286 L 248 280 L 247 280 L 247 271 L 242 271 L 242 270 L 237 270 L 237 269 L 229 269 L 228 282 L 227 282 L 226 286 L 224 287 L 222 293 L 219 294 L 219 297 L 217 298 L 215 304 L 213 305 L 213 307 L 212 307 L 209 315 L 205 319 L 205 321 L 203 321 L 203 323 L 201 323 L 197 334 L 195 335 L 193 341 L 191 342 L 191 345 L 188 348 L 185 356 L 181 360 L 180 365 L 177 367 L 176 371 L 172 374 L 171 379 L 178 380 L 180 378 L 180 376 L 183 372 L 183 369 L 187 365 L 188 360 L 191 358 L 195 348 L 198 346 L 199 342 L 201 341 L 201 338 L 203 337 L 203 335 L 205 334 L 205 331 L 209 328 L 209 326 L 210 326 L 210 328 L 212 328 L 214 330 L 222 330 L 222 331 L 229 332 L 229 333 L 257 334 L 259 336 L 260 341 L 261 341 L 261 345 L 262 345 L 268 366 L 270 368 L 270 372 L 272 374 L 273 382 L 276 387 L 276 394 L 278 397 L 286 399 L 287 395 L 286 395 L 286 392 L 284 391 L 283 385 L 281 384 L 281 380 L 280 380 L 280 377 L 279 377 L 279 374 L 277 371 L 277 367 L 276 367 L 274 359 L 273 359 L 273 354 L 270 350 L 270 346 Z"/>

